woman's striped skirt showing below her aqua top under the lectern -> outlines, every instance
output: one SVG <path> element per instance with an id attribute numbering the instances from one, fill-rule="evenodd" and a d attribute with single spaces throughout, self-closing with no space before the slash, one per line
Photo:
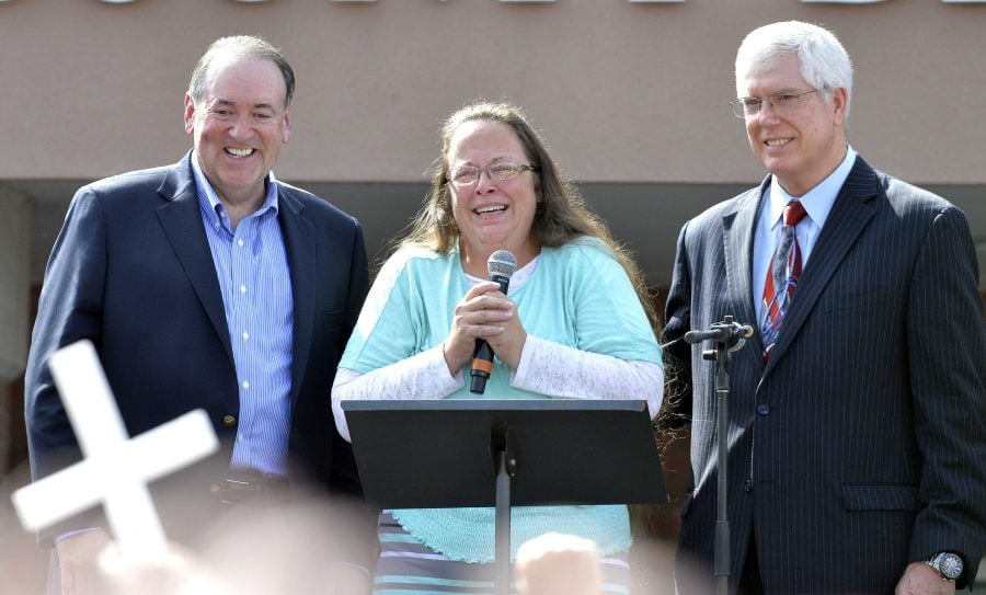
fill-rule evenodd
<path id="1" fill-rule="evenodd" d="M 404 530 L 390 511 L 380 515 L 380 558 L 374 595 L 493 595 L 494 564 L 449 560 Z M 629 553 L 599 560 L 605 595 L 629 595 Z M 511 593 L 516 593 L 511 585 Z"/>

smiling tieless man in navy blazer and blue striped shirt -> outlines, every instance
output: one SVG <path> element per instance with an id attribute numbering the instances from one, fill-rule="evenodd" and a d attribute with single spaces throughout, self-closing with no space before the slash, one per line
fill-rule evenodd
<path id="1" fill-rule="evenodd" d="M 203 408 L 220 436 L 218 465 L 154 485 L 182 543 L 225 510 L 284 504 L 299 485 L 360 496 L 329 394 L 367 291 L 363 231 L 274 178 L 294 87 L 263 39 L 215 42 L 185 95 L 192 151 L 79 190 L 45 274 L 25 389 L 34 477 L 79 457 L 46 363 L 89 339 L 130 435 Z M 87 514 L 41 536 L 67 592 L 87 590 L 104 526 Z M 341 573 L 369 559 L 351 552 Z"/>

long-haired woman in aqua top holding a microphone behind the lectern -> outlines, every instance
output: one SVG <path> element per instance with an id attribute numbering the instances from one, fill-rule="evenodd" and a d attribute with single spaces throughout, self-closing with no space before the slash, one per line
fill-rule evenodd
<path id="1" fill-rule="evenodd" d="M 637 398 L 653 417 L 664 373 L 642 275 L 519 108 L 467 105 L 440 138 L 426 204 L 374 282 L 340 363 L 332 407 L 343 437 L 348 399 Z M 517 260 L 508 295 L 486 281 L 498 250 Z M 495 357 L 485 392 L 473 394 L 480 339 Z M 603 592 L 628 593 L 626 505 L 518 506 L 511 519 L 512 554 L 548 531 L 592 539 Z M 493 508 L 383 511 L 378 535 L 377 595 L 493 592 Z"/>

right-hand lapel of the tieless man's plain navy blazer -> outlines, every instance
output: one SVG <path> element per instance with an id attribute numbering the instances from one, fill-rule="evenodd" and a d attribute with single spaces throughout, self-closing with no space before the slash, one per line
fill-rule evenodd
<path id="1" fill-rule="evenodd" d="M 291 408 L 305 378 L 314 327 L 316 245 L 313 226 L 302 211 L 301 204 L 284 184 L 277 185 L 280 230 L 291 270 L 294 298 L 294 345 L 291 347 Z"/>

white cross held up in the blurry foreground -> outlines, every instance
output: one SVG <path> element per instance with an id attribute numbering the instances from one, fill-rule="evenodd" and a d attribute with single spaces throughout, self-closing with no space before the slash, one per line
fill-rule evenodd
<path id="1" fill-rule="evenodd" d="M 208 415 L 195 410 L 129 439 L 92 343 L 58 350 L 48 367 L 85 458 L 13 493 L 21 524 L 37 530 L 102 503 L 123 557 L 163 553 L 147 484 L 219 448 Z"/>

